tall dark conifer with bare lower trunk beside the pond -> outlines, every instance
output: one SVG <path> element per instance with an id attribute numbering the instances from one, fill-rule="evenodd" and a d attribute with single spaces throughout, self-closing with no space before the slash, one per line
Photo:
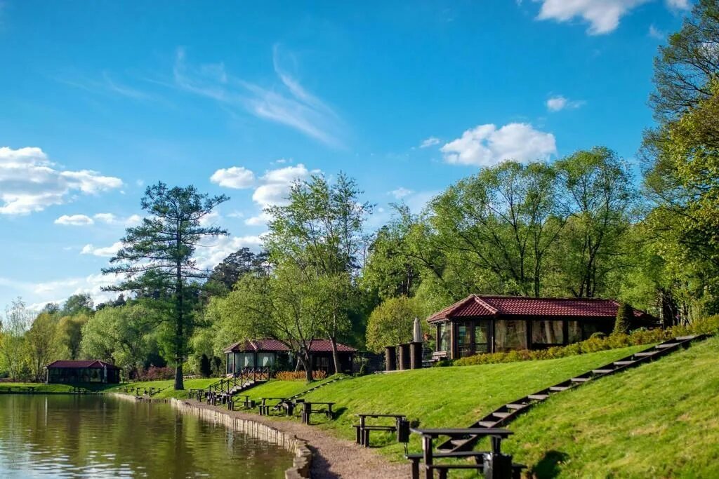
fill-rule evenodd
<path id="1" fill-rule="evenodd" d="M 228 199 L 198 193 L 193 186 L 168 188 L 158 182 L 147 187 L 140 205 L 149 216 L 141 225 L 127 228 L 122 248 L 110 260 L 115 266 L 103 269 L 104 274 L 125 277 L 109 290 L 139 294 L 150 290 L 169 300 L 164 320 L 172 324 L 169 350 L 175 366 L 175 389 L 184 389 L 182 365 L 194 326 L 191 302 L 198 296 L 198 281 L 209 276 L 209 271 L 197 267 L 193 254 L 203 240 L 228 234 L 201 221 Z"/>

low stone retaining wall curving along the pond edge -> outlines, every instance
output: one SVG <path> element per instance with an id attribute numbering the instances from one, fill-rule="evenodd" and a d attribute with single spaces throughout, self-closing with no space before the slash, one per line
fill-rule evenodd
<path id="1" fill-rule="evenodd" d="M 267 426 L 266 424 L 262 424 L 260 422 L 240 419 L 239 417 L 231 416 L 230 414 L 218 409 L 198 407 L 187 401 L 180 401 L 180 399 L 151 399 L 143 398 L 142 396 L 136 398 L 135 396 L 128 396 L 127 394 L 112 395 L 122 397 L 123 399 L 129 399 L 130 401 L 139 400 L 168 403 L 171 407 L 178 409 L 183 414 L 193 414 L 194 416 L 200 417 L 206 421 L 212 421 L 215 423 L 219 422 L 233 431 L 239 431 L 243 434 L 249 435 L 250 437 L 254 437 L 255 439 L 267 441 L 270 442 L 270 444 L 283 447 L 283 449 L 293 452 L 295 455 L 292 467 L 285 470 L 285 479 L 304 479 L 310 477 L 312 451 L 305 440 L 301 440 L 293 434 L 279 431 L 274 427 Z"/>

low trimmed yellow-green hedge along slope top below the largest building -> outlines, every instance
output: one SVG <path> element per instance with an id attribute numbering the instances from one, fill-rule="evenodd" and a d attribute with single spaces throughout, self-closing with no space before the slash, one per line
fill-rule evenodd
<path id="1" fill-rule="evenodd" d="M 719 315 L 696 320 L 692 322 L 691 325 L 673 326 L 667 329 L 639 329 L 632 331 L 630 334 L 613 333 L 608 336 L 595 333 L 591 338 L 580 343 L 555 346 L 549 349 L 476 354 L 467 358 L 457 359 L 452 362 L 452 366 L 474 366 L 477 364 L 513 363 L 515 361 L 533 361 L 536 359 L 566 358 L 567 356 L 595 353 L 597 351 L 615 348 L 626 348 L 627 346 L 633 345 L 661 343 L 662 341 L 677 336 L 716 334 L 717 332 L 719 332 Z"/>

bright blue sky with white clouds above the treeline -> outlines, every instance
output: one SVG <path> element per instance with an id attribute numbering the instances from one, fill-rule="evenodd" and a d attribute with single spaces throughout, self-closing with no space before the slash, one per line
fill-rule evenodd
<path id="1" fill-rule="evenodd" d="M 290 182 L 344 171 L 418 210 L 485 165 L 633 162 L 687 0 L 0 0 L 0 307 L 100 274 L 148 184 L 226 193 L 213 266 Z"/>

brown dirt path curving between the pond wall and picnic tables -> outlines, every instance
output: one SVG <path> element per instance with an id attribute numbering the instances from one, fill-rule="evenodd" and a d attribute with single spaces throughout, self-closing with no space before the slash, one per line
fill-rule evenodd
<path id="1" fill-rule="evenodd" d="M 318 427 L 295 421 L 277 421 L 270 417 L 247 412 L 227 411 L 227 409 L 209 406 L 201 401 L 186 402 L 205 409 L 216 409 L 234 417 L 261 422 L 306 440 L 313 452 L 313 478 L 405 479 L 410 477 L 409 465 L 389 462 L 375 450 L 334 437 Z"/>

